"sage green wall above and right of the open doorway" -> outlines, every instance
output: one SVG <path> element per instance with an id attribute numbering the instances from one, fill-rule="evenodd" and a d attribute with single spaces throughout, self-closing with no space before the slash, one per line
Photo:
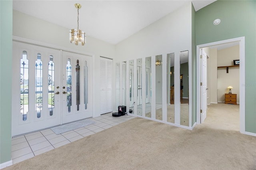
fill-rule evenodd
<path id="1" fill-rule="evenodd" d="M 238 37 L 245 37 L 245 131 L 256 133 L 256 1 L 218 0 L 196 12 L 196 45 Z"/>

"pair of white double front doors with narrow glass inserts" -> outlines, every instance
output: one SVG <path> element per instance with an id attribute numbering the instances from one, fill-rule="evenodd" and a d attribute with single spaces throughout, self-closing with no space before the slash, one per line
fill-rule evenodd
<path id="1" fill-rule="evenodd" d="M 91 117 L 92 106 L 92 68 L 91 58 L 84 55 L 70 55 L 70 65 L 74 70 L 73 89 L 67 89 L 67 53 L 58 49 L 41 47 L 13 41 L 12 63 L 12 136 L 49 128 L 62 123 Z M 80 89 L 76 89 L 76 63 L 80 66 Z M 62 62 L 61 62 L 62 61 Z M 65 63 L 66 61 L 66 63 Z M 84 72 L 85 61 L 87 72 Z M 84 78 L 87 74 L 87 79 Z M 83 76 L 83 77 L 82 77 Z M 72 105 L 67 110 L 67 94 L 72 90 Z M 67 92 L 67 93 L 64 93 Z M 76 105 L 76 92 L 80 93 L 79 111 Z M 82 97 L 86 96 L 86 98 Z M 85 108 L 84 101 L 87 103 Z M 74 102 L 74 103 L 73 103 Z M 81 113 L 83 114 L 81 116 Z"/>

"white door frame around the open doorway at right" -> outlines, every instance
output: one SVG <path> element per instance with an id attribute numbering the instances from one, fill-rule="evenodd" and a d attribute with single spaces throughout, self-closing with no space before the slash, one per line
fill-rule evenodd
<path id="1" fill-rule="evenodd" d="M 200 75 L 200 48 L 220 45 L 224 43 L 239 42 L 240 48 L 240 133 L 245 134 L 245 38 L 233 38 L 218 42 L 196 45 L 196 75 Z M 200 124 L 200 76 L 196 79 L 196 124 Z"/>

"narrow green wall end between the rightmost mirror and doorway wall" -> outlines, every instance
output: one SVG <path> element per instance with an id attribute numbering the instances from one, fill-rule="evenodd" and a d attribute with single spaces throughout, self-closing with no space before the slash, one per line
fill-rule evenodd
<path id="1" fill-rule="evenodd" d="M 191 53 L 192 53 L 192 126 L 196 123 L 196 11 L 194 6 L 191 6 L 191 32 L 192 32 L 192 43 L 191 43 Z"/>

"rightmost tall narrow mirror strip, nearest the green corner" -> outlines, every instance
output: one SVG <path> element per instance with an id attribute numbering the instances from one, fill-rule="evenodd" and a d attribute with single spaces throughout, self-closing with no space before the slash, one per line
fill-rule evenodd
<path id="1" fill-rule="evenodd" d="M 188 51 L 180 52 L 180 125 L 189 126 Z"/>

